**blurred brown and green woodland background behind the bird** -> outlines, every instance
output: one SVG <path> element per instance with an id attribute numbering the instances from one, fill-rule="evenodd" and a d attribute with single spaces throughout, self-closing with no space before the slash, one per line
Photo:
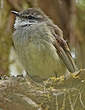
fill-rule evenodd
<path id="1" fill-rule="evenodd" d="M 0 0 L 0 75 L 8 74 L 17 59 L 12 50 L 11 10 L 30 7 L 41 8 L 63 30 L 77 66 L 85 68 L 85 0 Z"/>

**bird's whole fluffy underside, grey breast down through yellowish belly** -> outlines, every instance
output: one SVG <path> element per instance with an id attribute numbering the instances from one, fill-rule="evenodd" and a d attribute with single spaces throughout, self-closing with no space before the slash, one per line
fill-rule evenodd
<path id="1" fill-rule="evenodd" d="M 16 37 L 16 38 L 15 38 Z M 61 63 L 52 44 L 51 33 L 41 31 L 16 32 L 14 44 L 21 63 L 31 76 L 47 79 L 61 71 Z"/>

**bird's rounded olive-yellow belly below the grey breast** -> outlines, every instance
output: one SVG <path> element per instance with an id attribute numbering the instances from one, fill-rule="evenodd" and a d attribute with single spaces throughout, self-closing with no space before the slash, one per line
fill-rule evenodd
<path id="1" fill-rule="evenodd" d="M 19 51 L 20 60 L 31 76 L 47 79 L 61 71 L 61 64 L 56 49 L 49 42 L 32 41 L 28 46 L 19 48 Z"/>

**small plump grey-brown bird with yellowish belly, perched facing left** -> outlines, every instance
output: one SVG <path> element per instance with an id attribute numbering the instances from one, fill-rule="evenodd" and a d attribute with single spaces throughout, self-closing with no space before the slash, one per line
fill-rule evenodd
<path id="1" fill-rule="evenodd" d="M 61 29 L 41 9 L 12 11 L 13 43 L 25 71 L 36 81 L 59 74 L 61 60 L 69 72 L 77 68 Z"/>

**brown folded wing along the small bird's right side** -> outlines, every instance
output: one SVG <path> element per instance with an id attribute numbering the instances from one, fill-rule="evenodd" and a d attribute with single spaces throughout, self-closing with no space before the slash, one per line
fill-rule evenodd
<path id="1" fill-rule="evenodd" d="M 55 46 L 58 55 L 60 56 L 60 58 L 62 59 L 63 63 L 66 65 L 68 70 L 71 73 L 74 73 L 77 70 L 77 68 L 71 56 L 70 49 L 66 41 L 63 39 L 62 31 L 60 30 L 60 28 L 58 28 L 54 24 L 50 25 L 50 29 L 51 29 L 52 35 L 56 39 L 53 42 L 53 45 Z"/>

